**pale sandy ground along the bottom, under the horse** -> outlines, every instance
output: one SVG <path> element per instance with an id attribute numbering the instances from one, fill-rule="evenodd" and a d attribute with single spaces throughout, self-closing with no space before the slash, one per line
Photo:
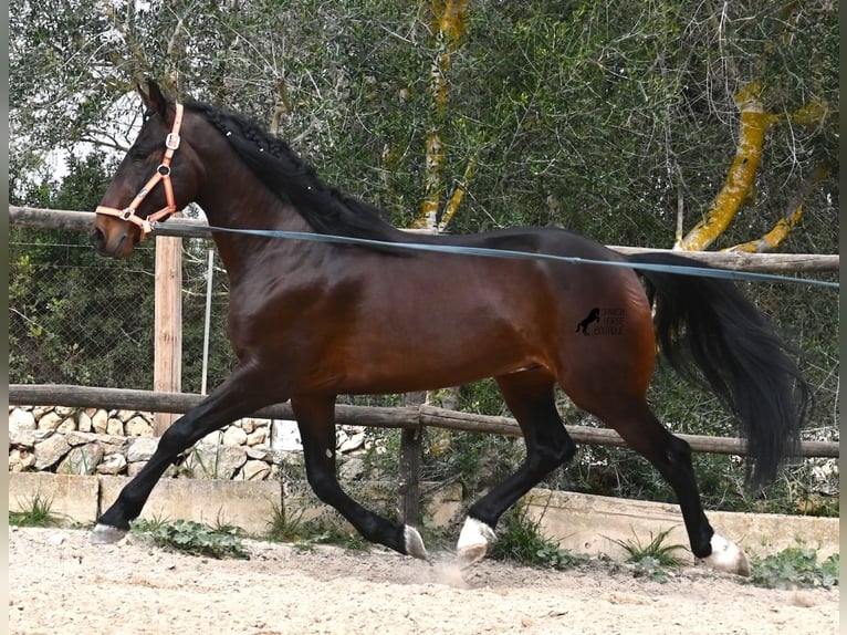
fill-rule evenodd
<path id="1" fill-rule="evenodd" d="M 687 566 L 668 582 L 595 562 L 565 572 L 483 561 L 461 571 L 381 550 L 245 541 L 250 560 L 129 537 L 9 529 L 10 633 L 838 633 L 838 590 L 777 591 Z"/>

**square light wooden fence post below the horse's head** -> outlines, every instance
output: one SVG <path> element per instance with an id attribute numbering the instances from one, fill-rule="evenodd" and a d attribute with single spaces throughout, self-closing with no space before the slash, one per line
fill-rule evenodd
<path id="1" fill-rule="evenodd" d="M 182 389 L 181 238 L 156 238 L 155 284 L 153 389 L 179 393 Z M 156 413 L 154 435 L 160 437 L 176 418 L 176 415 L 169 413 Z"/>

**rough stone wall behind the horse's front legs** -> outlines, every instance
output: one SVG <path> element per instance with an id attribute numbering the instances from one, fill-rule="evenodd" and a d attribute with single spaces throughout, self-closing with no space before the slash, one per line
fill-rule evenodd
<path id="1" fill-rule="evenodd" d="M 339 462 L 347 470 L 366 451 L 365 428 L 339 426 Z M 158 445 L 153 413 L 13 406 L 9 408 L 9 471 L 134 476 Z M 211 433 L 167 476 L 232 480 L 278 478 L 287 452 L 300 449 L 293 421 L 244 418 Z M 346 460 L 345 460 L 346 459 Z"/>

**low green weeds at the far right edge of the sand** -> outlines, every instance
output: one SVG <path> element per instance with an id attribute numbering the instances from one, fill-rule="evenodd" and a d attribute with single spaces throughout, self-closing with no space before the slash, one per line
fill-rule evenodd
<path id="1" fill-rule="evenodd" d="M 840 559 L 837 553 L 824 562 L 817 552 L 805 546 L 790 546 L 777 554 L 751 558 L 751 583 L 768 589 L 829 589 L 838 585 Z"/>

